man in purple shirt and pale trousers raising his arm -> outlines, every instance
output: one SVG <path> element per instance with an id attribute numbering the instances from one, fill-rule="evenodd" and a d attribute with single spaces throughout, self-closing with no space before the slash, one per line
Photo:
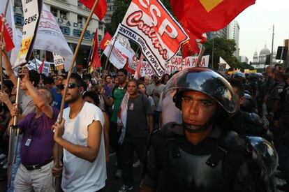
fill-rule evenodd
<path id="1" fill-rule="evenodd" d="M 54 191 L 52 188 L 53 166 L 53 131 L 51 129 L 57 120 L 59 111 L 51 107 L 53 101 L 50 89 L 36 88 L 29 81 L 29 73 L 24 68 L 22 82 L 33 98 L 36 112 L 29 113 L 18 126 L 23 133 L 21 144 L 21 164 L 15 177 L 15 192 L 21 191 Z M 16 109 L 12 115 L 18 115 Z"/>

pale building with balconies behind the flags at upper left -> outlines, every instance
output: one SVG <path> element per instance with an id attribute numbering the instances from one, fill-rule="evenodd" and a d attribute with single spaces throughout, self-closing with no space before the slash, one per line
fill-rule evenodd
<path id="1" fill-rule="evenodd" d="M 14 6 L 15 26 L 22 31 L 23 10 L 21 0 L 12 0 L 12 3 Z M 74 52 L 84 24 L 87 21 L 89 9 L 77 0 L 44 0 L 44 4 L 48 10 L 51 11 L 52 15 L 54 15 L 69 47 L 71 47 L 71 50 Z M 89 22 L 89 27 L 87 31 L 85 31 L 80 51 L 77 54 L 77 66 L 86 66 L 96 29 L 98 29 L 98 43 L 100 43 L 104 36 L 105 25 L 104 22 L 98 20 L 96 15 L 93 15 Z M 38 53 L 38 59 L 46 58 L 47 61 L 53 61 L 52 53 L 45 51 Z"/>

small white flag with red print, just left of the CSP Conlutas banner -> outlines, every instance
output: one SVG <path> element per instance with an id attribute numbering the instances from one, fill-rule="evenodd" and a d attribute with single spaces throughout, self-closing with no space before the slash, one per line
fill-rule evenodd
<path id="1" fill-rule="evenodd" d="M 114 47 L 110 54 L 113 43 Z M 112 40 L 110 40 L 110 44 L 105 48 L 103 54 L 106 56 L 110 54 L 110 63 L 112 63 L 116 68 L 124 68 L 126 61 L 131 61 L 135 52 L 131 49 L 131 44 L 129 43 L 128 38 L 116 33 L 112 37 Z"/>

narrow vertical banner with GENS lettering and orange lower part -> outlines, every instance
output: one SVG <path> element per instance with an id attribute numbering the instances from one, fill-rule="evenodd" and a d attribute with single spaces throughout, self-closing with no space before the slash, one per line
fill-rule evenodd
<path id="1" fill-rule="evenodd" d="M 29 60 L 36 38 L 42 6 L 42 0 L 22 0 L 24 25 L 20 52 L 15 61 L 15 66 L 24 64 Z"/>

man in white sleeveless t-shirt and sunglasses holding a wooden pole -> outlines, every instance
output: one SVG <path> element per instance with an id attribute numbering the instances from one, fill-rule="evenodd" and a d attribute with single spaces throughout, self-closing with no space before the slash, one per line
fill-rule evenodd
<path id="1" fill-rule="evenodd" d="M 52 126 L 55 142 L 64 148 L 61 188 L 64 191 L 100 191 L 106 179 L 103 112 L 83 101 L 84 84 L 80 75 L 73 73 L 64 86 L 68 86 L 65 101 L 69 107 L 64 110 L 61 124 Z M 56 155 L 55 147 L 54 152 Z M 61 168 L 56 168 L 55 163 L 52 173 L 59 175 Z"/>

